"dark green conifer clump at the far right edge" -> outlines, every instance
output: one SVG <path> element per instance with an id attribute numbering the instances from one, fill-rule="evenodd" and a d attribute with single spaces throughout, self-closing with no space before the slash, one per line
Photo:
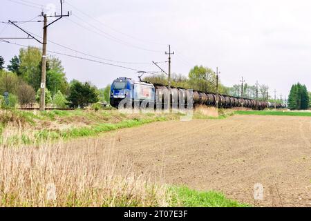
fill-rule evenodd
<path id="1" fill-rule="evenodd" d="M 309 108 L 310 97 L 307 87 L 300 83 L 292 85 L 288 97 L 288 108 L 291 110 L 306 110 Z"/>

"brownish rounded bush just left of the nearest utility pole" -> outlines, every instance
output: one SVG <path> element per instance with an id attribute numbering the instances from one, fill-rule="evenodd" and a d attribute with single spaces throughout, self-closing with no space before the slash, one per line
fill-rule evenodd
<path id="1" fill-rule="evenodd" d="M 17 88 L 17 97 L 20 106 L 32 106 L 35 103 L 36 93 L 32 86 L 23 82 Z"/>

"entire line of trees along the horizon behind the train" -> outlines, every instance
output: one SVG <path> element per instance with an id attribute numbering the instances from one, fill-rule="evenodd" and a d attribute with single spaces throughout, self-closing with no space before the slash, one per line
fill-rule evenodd
<path id="1" fill-rule="evenodd" d="M 41 84 L 41 50 L 35 47 L 21 48 L 19 55 L 12 57 L 7 67 L 4 66 L 3 57 L 0 56 L 0 93 L 9 93 L 10 106 L 34 106 L 40 99 Z M 144 77 L 144 81 L 153 84 L 168 84 L 167 75 L 151 75 Z M 180 88 L 216 93 L 216 73 L 205 66 L 194 66 L 187 77 L 173 73 L 171 85 Z M 91 82 L 73 80 L 68 82 L 62 61 L 57 57 L 48 56 L 46 63 L 46 104 L 57 107 L 85 107 L 96 102 L 109 102 L 110 88 L 98 89 Z M 224 86 L 218 79 L 218 93 L 241 97 L 241 85 Z M 243 97 L 256 99 L 257 87 L 245 83 Z M 258 85 L 258 99 L 265 102 L 275 102 L 268 93 L 268 86 Z M 0 96 L 2 97 L 2 96 Z M 3 98 L 1 105 L 6 102 Z M 277 102 L 281 102 L 278 100 Z M 6 105 L 8 105 L 6 104 Z M 311 104 L 311 93 L 305 85 L 294 84 L 288 97 L 288 107 L 292 110 L 308 109 Z"/>

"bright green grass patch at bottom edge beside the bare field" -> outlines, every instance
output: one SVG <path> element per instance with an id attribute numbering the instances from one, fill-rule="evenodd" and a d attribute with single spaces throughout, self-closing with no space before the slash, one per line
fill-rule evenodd
<path id="1" fill-rule="evenodd" d="M 171 206 L 185 207 L 249 207 L 234 200 L 229 200 L 222 193 L 215 191 L 196 191 L 186 186 L 170 188 L 175 195 Z"/>

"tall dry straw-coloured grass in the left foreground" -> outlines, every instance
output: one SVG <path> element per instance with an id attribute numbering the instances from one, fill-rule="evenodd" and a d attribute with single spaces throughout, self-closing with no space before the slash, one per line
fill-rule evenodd
<path id="1" fill-rule="evenodd" d="M 0 206 L 168 206 L 167 187 L 132 173 L 126 160 L 112 157 L 113 148 L 76 142 L 84 148 L 62 141 L 0 146 Z"/>

